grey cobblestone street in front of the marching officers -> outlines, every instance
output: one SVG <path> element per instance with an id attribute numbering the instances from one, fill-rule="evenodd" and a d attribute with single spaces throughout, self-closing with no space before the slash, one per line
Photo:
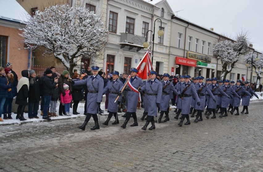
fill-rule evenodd
<path id="1" fill-rule="evenodd" d="M 116 126 L 113 118 L 102 125 L 102 115 L 95 131 L 92 118 L 85 131 L 77 128 L 84 117 L 0 126 L 0 171 L 263 171 L 262 105 L 251 102 L 249 114 L 239 116 L 191 118 L 182 127 L 172 110 L 153 131 L 141 130 L 143 110 L 139 127 L 130 127 L 131 118 L 126 129 L 120 114 Z"/>

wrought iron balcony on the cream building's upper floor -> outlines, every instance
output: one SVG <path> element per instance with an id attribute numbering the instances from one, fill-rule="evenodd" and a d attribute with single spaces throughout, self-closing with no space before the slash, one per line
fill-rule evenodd
<path id="1" fill-rule="evenodd" d="M 139 35 L 134 35 L 131 33 L 120 33 L 120 42 L 121 49 L 125 46 L 129 46 L 129 50 L 137 48 L 137 52 L 144 48 L 143 43 L 145 38 Z"/>

